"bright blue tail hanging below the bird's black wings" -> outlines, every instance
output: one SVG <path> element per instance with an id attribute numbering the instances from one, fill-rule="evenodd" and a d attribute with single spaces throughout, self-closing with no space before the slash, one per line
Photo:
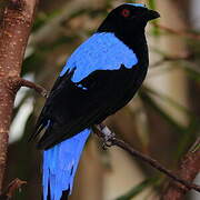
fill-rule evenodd
<path id="1" fill-rule="evenodd" d="M 43 200 L 47 200 L 48 196 L 51 200 L 60 200 L 62 191 L 67 190 L 71 193 L 81 152 L 89 134 L 90 129 L 86 129 L 43 151 Z"/>

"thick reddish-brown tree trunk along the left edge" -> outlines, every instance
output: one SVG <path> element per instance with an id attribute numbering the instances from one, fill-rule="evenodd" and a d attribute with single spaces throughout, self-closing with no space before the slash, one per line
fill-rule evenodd
<path id="1" fill-rule="evenodd" d="M 10 0 L 0 24 L 0 191 L 7 161 L 8 132 L 37 0 Z"/>

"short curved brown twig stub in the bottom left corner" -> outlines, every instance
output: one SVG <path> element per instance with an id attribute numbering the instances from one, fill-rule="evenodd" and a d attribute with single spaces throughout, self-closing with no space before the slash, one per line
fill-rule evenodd
<path id="1" fill-rule="evenodd" d="M 20 189 L 23 184 L 27 184 L 27 181 L 22 181 L 22 180 L 20 180 L 18 178 L 14 179 L 13 181 L 11 181 L 9 183 L 6 191 L 2 192 L 2 194 L 0 196 L 0 200 L 9 200 L 9 199 L 11 199 L 14 191 Z"/>

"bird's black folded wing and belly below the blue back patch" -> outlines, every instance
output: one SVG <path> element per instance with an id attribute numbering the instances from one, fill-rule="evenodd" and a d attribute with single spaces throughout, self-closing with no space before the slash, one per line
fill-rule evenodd
<path id="1" fill-rule="evenodd" d="M 74 69 L 76 70 L 76 69 Z M 78 83 L 74 71 L 56 81 L 36 126 L 36 133 L 47 127 L 38 147 L 48 149 L 86 128 L 100 123 L 133 97 L 146 70 L 134 66 L 119 70 L 96 70 Z"/>

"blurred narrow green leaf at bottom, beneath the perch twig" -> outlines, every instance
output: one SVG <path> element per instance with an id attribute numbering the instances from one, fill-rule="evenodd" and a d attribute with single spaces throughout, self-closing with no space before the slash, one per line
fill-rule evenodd
<path id="1" fill-rule="evenodd" d="M 157 181 L 158 181 L 158 178 L 146 179 L 144 181 L 142 181 L 141 183 L 132 188 L 129 192 L 117 198 L 116 200 L 130 200 L 131 198 L 134 198 L 140 192 L 142 192 L 146 188 L 154 184 Z"/>

